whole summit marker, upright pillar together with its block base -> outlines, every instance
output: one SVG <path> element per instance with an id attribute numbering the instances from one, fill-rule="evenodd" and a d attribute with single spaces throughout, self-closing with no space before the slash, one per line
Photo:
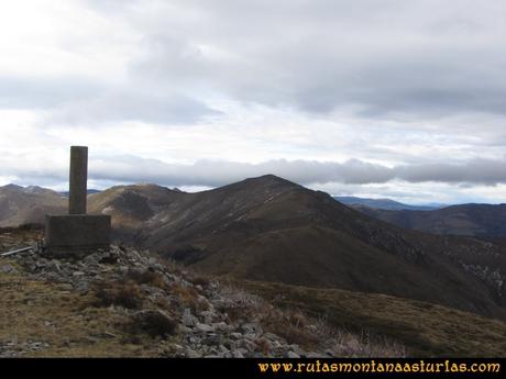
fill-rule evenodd
<path id="1" fill-rule="evenodd" d="M 68 214 L 46 215 L 44 254 L 84 256 L 109 249 L 111 218 L 87 214 L 88 147 L 70 147 Z"/>

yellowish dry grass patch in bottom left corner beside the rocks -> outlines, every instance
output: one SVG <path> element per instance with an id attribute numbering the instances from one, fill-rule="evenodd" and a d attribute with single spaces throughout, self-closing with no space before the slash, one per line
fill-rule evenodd
<path id="1" fill-rule="evenodd" d="M 13 260 L 1 264 L 15 266 Z M 13 350 L 30 342 L 47 347 L 26 356 L 148 357 L 158 353 L 153 339 L 141 336 L 124 343 L 129 320 L 107 308 L 95 308 L 91 294 L 79 296 L 61 285 L 28 280 L 20 274 L 0 274 L 0 346 L 15 341 Z"/>

